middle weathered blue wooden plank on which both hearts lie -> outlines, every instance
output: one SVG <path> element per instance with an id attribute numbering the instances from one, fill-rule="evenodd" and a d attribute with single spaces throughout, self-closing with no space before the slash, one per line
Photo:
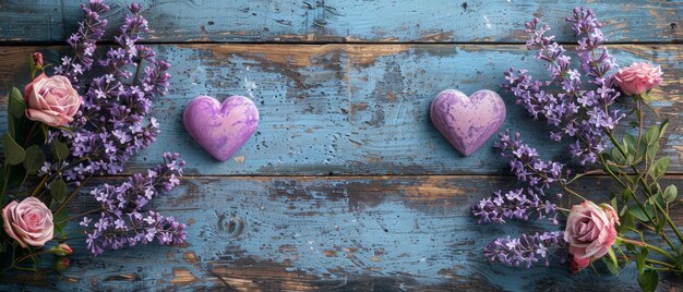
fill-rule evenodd
<path id="1" fill-rule="evenodd" d="M 432 126 L 429 104 L 446 88 L 499 92 L 508 117 L 502 129 L 522 132 L 547 158 L 568 159 L 565 146 L 551 142 L 544 122 L 534 122 L 504 93 L 502 72 L 526 68 L 546 75 L 543 64 L 517 45 L 165 45 L 156 47 L 172 62 L 171 93 L 156 104 L 153 115 L 161 135 L 152 148 L 129 163 L 133 171 L 179 151 L 195 175 L 324 174 L 495 174 L 508 173 L 505 159 L 492 149 L 495 138 L 464 158 Z M 56 47 L 0 48 L 0 95 L 25 84 L 26 59 L 43 51 L 57 62 Z M 650 122 L 671 120 L 662 155 L 670 171 L 683 171 L 683 51 L 674 45 L 619 45 L 620 63 L 647 60 L 661 64 L 662 86 L 651 96 Z M 261 112 L 257 133 L 233 159 L 217 162 L 182 126 L 181 112 L 191 98 L 249 96 Z M 3 97 L 5 98 L 5 97 Z M 3 99 L 0 119 L 4 120 Z M 4 123 L 0 129 L 4 129 Z M 626 123 L 623 123 L 626 127 Z M 546 147 L 543 145 L 550 145 Z M 543 146 L 543 147 L 541 147 Z"/>

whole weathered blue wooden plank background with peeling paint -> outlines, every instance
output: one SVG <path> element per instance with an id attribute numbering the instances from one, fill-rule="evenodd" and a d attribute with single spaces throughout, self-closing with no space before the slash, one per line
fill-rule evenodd
<path id="1" fill-rule="evenodd" d="M 28 81 L 28 56 L 57 62 L 80 1 L 0 1 L 0 130 L 7 92 Z M 109 1 L 112 20 L 130 1 Z M 669 118 L 662 155 L 683 188 L 683 2 L 438 0 L 142 1 L 146 41 L 173 64 L 171 93 L 155 104 L 163 133 L 127 173 L 165 150 L 188 161 L 182 186 L 154 206 L 189 226 L 183 246 L 146 246 L 91 258 L 83 244 L 59 290 L 635 290 L 635 267 L 571 275 L 562 265 L 507 268 L 481 250 L 495 238 L 558 227 L 478 226 L 469 207 L 515 186 L 493 139 L 459 156 L 432 127 L 442 89 L 499 92 L 503 129 L 523 132 L 547 158 L 567 159 L 504 94 L 502 72 L 542 64 L 524 47 L 524 22 L 541 17 L 573 42 L 563 21 L 592 8 L 621 64 L 652 61 L 666 73 L 650 122 Z M 110 23 L 110 27 L 119 24 Z M 110 34 L 111 35 L 111 34 Z M 111 39 L 110 35 L 107 37 Z M 244 95 L 260 107 L 257 133 L 216 162 L 185 133 L 192 97 Z M 120 178 L 101 178 L 101 181 Z M 608 178 L 578 190 L 604 199 Z M 83 195 L 72 209 L 93 204 Z M 683 222 L 683 214 L 676 215 Z M 50 284 L 50 283 L 47 283 Z M 681 290 L 668 275 L 663 290 Z M 7 285 L 7 289 L 21 288 Z M 35 289 L 31 288 L 31 289 Z M 0 290 L 4 290 L 0 287 Z"/>

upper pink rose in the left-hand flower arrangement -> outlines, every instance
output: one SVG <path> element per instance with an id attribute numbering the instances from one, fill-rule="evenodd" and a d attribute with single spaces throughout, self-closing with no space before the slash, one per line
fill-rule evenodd
<path id="1" fill-rule="evenodd" d="M 24 88 L 26 118 L 51 126 L 73 121 L 82 99 L 64 76 L 38 75 Z"/>

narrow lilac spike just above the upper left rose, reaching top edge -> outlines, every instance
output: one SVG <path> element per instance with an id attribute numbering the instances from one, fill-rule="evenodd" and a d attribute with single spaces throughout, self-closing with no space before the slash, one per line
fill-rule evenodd
<path id="1" fill-rule="evenodd" d="M 79 31 L 67 39 L 67 44 L 74 51 L 74 57 L 62 57 L 62 63 L 55 68 L 57 74 L 69 77 L 71 84 L 79 88 L 79 77 L 93 66 L 93 53 L 97 48 L 97 41 L 105 35 L 107 20 L 100 20 L 99 15 L 109 11 L 109 7 L 101 1 L 92 0 L 88 4 L 81 4 L 85 19 L 79 23 Z"/>

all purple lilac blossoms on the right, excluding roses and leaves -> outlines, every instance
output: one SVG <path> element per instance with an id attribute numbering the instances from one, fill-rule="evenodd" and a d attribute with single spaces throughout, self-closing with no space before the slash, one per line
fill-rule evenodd
<path id="1" fill-rule="evenodd" d="M 616 64 L 604 46 L 606 39 L 600 31 L 602 24 L 591 10 L 575 9 L 567 22 L 580 37 L 576 51 L 585 76 L 571 68 L 572 58 L 565 54 L 566 50 L 555 41 L 555 37 L 546 35 L 550 27 L 539 25 L 539 20 L 535 19 L 526 23 L 526 33 L 530 37 L 527 48 L 537 50 L 536 58 L 548 63 L 550 80 L 537 81 L 526 70 L 515 72 L 511 69 L 505 72 L 508 84 L 503 84 L 503 87 L 515 95 L 517 104 L 523 105 L 535 120 L 542 118 L 556 129 L 550 133 L 553 141 L 572 137 L 570 151 L 582 165 L 595 163 L 607 148 L 608 134 L 624 118 L 619 110 L 610 110 L 619 93 L 608 73 Z M 584 82 L 589 89 L 583 88 Z M 564 170 L 563 163 L 540 159 L 535 148 L 522 142 L 519 133 L 511 136 L 506 131 L 499 136 L 495 147 L 501 155 L 510 158 L 511 170 L 517 181 L 526 184 L 526 191 L 519 188 L 505 194 L 499 191 L 472 206 L 474 216 L 479 218 L 480 223 L 504 223 L 506 218 L 529 220 L 537 214 L 539 219 L 549 217 L 558 223 L 558 206 L 541 197 L 552 184 L 578 195 L 566 186 L 571 172 Z M 551 245 L 566 246 L 562 235 L 562 231 L 554 231 L 524 234 L 519 239 L 498 239 L 484 248 L 484 256 L 510 266 L 526 264 L 527 267 L 540 257 L 546 258 L 548 265 L 548 248 Z"/>

